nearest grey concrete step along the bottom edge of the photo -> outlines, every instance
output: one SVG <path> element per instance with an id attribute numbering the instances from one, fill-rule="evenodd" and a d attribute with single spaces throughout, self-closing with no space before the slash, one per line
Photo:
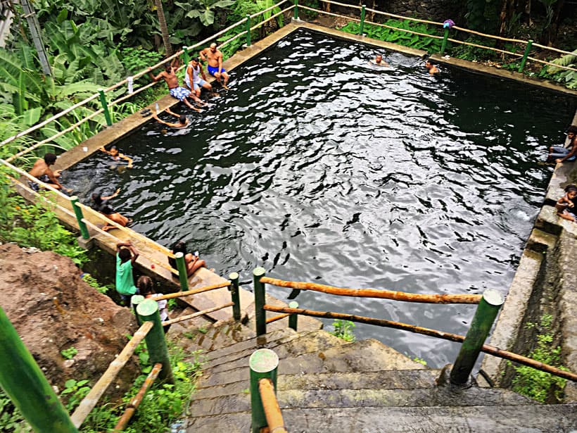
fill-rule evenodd
<path id="1" fill-rule="evenodd" d="M 364 407 L 286 409 L 284 425 L 290 432 L 474 432 L 569 433 L 577 429 L 577 406 L 514 405 L 467 407 Z M 246 433 L 248 412 L 202 416 L 188 420 L 187 433 Z"/>

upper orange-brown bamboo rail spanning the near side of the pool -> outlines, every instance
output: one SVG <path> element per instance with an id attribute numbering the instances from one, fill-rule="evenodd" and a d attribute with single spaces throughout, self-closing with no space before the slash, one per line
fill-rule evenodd
<path id="1" fill-rule="evenodd" d="M 320 291 L 326 294 L 338 296 L 355 296 L 358 298 L 392 299 L 394 301 L 418 302 L 418 303 L 479 303 L 481 295 L 439 295 L 439 294 L 415 294 L 405 291 L 386 289 L 343 289 L 342 287 L 327 286 L 314 282 L 284 281 L 277 278 L 262 277 L 260 282 L 272 284 L 278 287 L 291 289 Z"/>

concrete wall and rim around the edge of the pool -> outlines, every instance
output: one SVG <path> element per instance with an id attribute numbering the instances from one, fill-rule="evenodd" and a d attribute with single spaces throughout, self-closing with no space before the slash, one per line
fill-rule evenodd
<path id="1" fill-rule="evenodd" d="M 410 56 L 420 57 L 426 54 L 425 51 L 417 49 L 410 49 L 388 42 L 367 39 L 354 34 L 345 34 L 338 30 L 312 25 L 302 21 L 293 21 L 293 23 L 282 27 L 281 30 L 271 34 L 269 37 L 256 42 L 243 51 L 239 51 L 239 53 L 235 54 L 232 58 L 229 58 L 224 63 L 224 66 L 227 70 L 234 69 L 236 66 L 249 58 L 260 54 L 260 52 L 267 49 L 268 46 L 278 42 L 279 39 L 298 30 L 299 28 L 324 32 L 341 39 L 349 39 L 355 42 L 379 46 L 383 49 L 398 51 Z M 441 58 L 436 55 L 431 56 L 431 58 L 438 63 L 445 63 L 447 65 L 456 66 L 457 68 L 464 68 L 474 73 L 492 75 L 507 80 L 516 80 L 569 96 L 577 96 L 577 92 L 575 91 L 564 89 L 552 83 L 541 82 L 531 77 L 525 77 L 519 73 L 490 68 L 485 65 L 479 65 L 478 63 L 471 63 L 459 59 Z M 176 103 L 177 101 L 168 95 L 158 101 L 160 109 L 165 109 L 175 105 Z M 153 109 L 153 104 L 148 108 Z M 76 146 L 74 149 L 64 153 L 60 158 L 58 158 L 56 168 L 70 168 L 72 165 L 80 162 L 91 153 L 98 151 L 100 146 L 116 142 L 118 139 L 125 137 L 127 134 L 132 132 L 134 128 L 141 126 L 148 120 L 150 119 L 142 118 L 139 114 L 125 118 L 119 123 L 108 127 L 96 136 L 91 137 L 91 139 L 88 139 L 86 142 Z M 545 149 L 543 149 L 543 151 L 545 152 Z M 571 308 L 575 308 L 574 306 L 577 305 L 577 299 L 575 299 L 575 295 L 572 294 L 570 290 L 571 287 L 576 287 L 576 281 L 574 280 L 574 275 L 571 274 L 572 268 L 569 260 L 575 257 L 574 237 L 575 234 L 577 234 L 577 226 L 572 222 L 559 220 L 557 215 L 554 213 L 552 204 L 554 204 L 554 201 L 562 195 L 562 187 L 569 182 L 574 182 L 576 177 L 577 171 L 574 168 L 574 163 L 558 165 L 554 171 L 552 180 L 547 189 L 545 206 L 543 206 L 543 209 L 535 221 L 535 227 L 533 228 L 531 236 L 527 241 L 526 248 L 521 255 L 519 268 L 516 271 L 514 280 L 509 289 L 507 301 L 505 306 L 502 308 L 502 313 L 500 314 L 495 331 L 493 332 L 493 337 L 490 341 L 490 344 L 497 346 L 500 349 L 513 350 L 517 353 L 527 353 L 526 348 L 530 347 L 531 344 L 529 343 L 529 336 L 524 335 L 524 324 L 528 321 L 538 322 L 538 319 L 535 319 L 535 314 L 540 313 L 543 308 L 540 307 L 542 306 L 540 300 L 541 296 L 538 296 L 539 299 L 535 299 L 535 296 L 543 294 L 543 291 L 547 289 L 545 290 L 547 293 L 550 291 L 551 293 L 557 293 L 554 295 L 554 298 L 558 302 L 551 303 L 551 305 L 560 306 L 559 310 L 556 310 L 556 314 L 554 315 L 556 318 L 559 318 L 555 323 L 558 325 L 558 330 L 561 332 L 564 340 L 564 363 L 573 372 L 577 371 L 577 336 L 575 332 L 571 330 L 577 329 L 577 314 L 575 311 L 571 310 Z M 64 205 L 68 203 L 62 204 Z M 59 216 L 61 216 L 61 220 L 63 220 L 66 225 L 76 228 L 75 220 L 69 215 Z M 85 218 L 93 220 L 95 223 L 98 222 L 94 220 L 94 218 L 90 218 L 90 216 L 85 215 Z M 118 233 L 118 230 L 115 230 L 114 234 L 118 236 L 118 241 L 129 237 L 129 234 L 126 234 L 125 232 Z M 111 237 L 103 236 L 102 234 L 94 234 L 94 242 L 101 249 L 110 253 L 115 251 L 115 241 L 116 240 Z M 546 254 L 544 254 L 544 252 Z M 170 272 L 158 266 L 155 268 L 153 266 L 153 261 L 148 260 L 148 257 L 155 258 L 157 261 L 166 261 L 166 256 L 163 255 L 163 253 L 160 253 L 153 248 L 146 248 L 145 246 L 142 248 L 141 258 L 139 258 L 139 271 L 144 274 L 152 275 L 156 280 L 160 280 L 165 284 L 167 289 L 177 290 L 178 286 L 175 280 L 173 280 L 172 275 L 170 275 Z M 558 278 L 556 278 L 554 274 L 556 269 L 559 270 L 559 275 L 557 275 Z M 247 280 L 247 277 L 247 275 L 243 275 L 241 276 L 241 280 Z M 557 282 L 555 282 L 555 280 L 557 280 Z M 209 270 L 202 269 L 190 279 L 189 285 L 192 288 L 222 281 L 224 281 L 224 278 L 215 275 Z M 551 287 L 547 288 L 549 286 Z M 229 293 L 227 289 L 220 289 L 208 292 L 207 294 L 194 296 L 191 305 L 198 310 L 203 310 L 205 308 L 221 305 L 228 301 Z M 241 306 L 243 310 L 247 309 L 252 301 L 252 295 L 250 292 L 241 290 Z M 214 320 L 221 320 L 230 316 L 231 308 L 211 314 L 211 317 Z M 483 360 L 482 369 L 486 372 L 486 375 L 490 377 L 492 382 L 507 386 L 507 376 L 510 377 L 510 372 L 507 373 L 507 365 L 505 362 L 499 358 L 486 357 L 485 360 Z M 502 372 L 506 372 L 505 376 L 502 375 Z M 567 394 L 570 399 L 569 401 L 576 401 L 577 391 L 572 386 L 573 384 L 568 385 Z"/>

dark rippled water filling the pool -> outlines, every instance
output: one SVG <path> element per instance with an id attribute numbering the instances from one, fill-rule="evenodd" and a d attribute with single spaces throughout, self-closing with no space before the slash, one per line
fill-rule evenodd
<path id="1" fill-rule="evenodd" d="M 122 187 L 115 208 L 169 246 L 185 239 L 211 267 L 286 280 L 415 293 L 506 293 L 545 195 L 537 165 L 574 103 L 554 94 L 300 31 L 232 71 L 232 87 L 188 130 L 154 121 L 122 140 L 134 168 L 102 154 L 65 180 L 87 200 Z M 178 107 L 186 113 L 186 108 Z M 277 297 L 286 289 L 268 287 Z M 306 308 L 464 334 L 471 306 L 303 292 Z M 357 325 L 429 365 L 458 345 Z"/>

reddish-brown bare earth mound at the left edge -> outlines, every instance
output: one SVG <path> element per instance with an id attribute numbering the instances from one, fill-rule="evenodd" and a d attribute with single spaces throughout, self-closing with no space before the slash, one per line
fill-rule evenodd
<path id="1" fill-rule="evenodd" d="M 14 244 L 0 245 L 0 306 L 60 391 L 67 379 L 94 384 L 137 329 L 130 310 L 89 287 L 69 258 Z M 71 347 L 77 354 L 67 360 L 61 351 Z M 137 370 L 127 363 L 109 391 L 125 391 Z"/>

